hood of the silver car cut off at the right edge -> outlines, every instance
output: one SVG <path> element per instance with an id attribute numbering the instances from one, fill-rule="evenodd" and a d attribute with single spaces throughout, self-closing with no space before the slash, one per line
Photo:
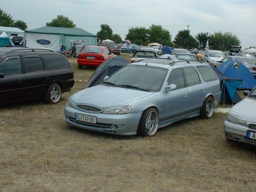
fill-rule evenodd
<path id="1" fill-rule="evenodd" d="M 235 116 L 242 117 L 246 121 L 256 122 L 255 109 L 256 99 L 249 99 L 248 97 L 246 97 L 244 100 L 233 106 L 229 113 Z"/>

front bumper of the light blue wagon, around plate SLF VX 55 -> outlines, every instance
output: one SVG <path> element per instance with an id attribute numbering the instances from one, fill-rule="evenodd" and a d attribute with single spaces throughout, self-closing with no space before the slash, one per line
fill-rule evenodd
<path id="1" fill-rule="evenodd" d="M 88 116 L 96 116 L 97 123 L 92 124 L 75 120 L 75 113 Z M 136 135 L 142 112 L 134 114 L 88 113 L 66 106 L 64 109 L 64 114 L 66 123 L 71 126 L 116 135 Z M 113 128 L 113 125 L 122 126 Z"/>

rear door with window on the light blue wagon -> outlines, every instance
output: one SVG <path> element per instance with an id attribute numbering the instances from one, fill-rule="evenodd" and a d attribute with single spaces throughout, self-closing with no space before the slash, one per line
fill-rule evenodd
<path id="1" fill-rule="evenodd" d="M 186 108 L 188 113 L 196 112 L 202 108 L 207 86 L 193 66 L 184 67 L 183 70 L 188 85 L 188 100 L 190 101 Z"/>

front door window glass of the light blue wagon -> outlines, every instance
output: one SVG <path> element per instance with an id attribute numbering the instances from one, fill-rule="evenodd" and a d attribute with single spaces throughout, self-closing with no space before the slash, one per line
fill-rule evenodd
<path id="1" fill-rule="evenodd" d="M 167 84 L 175 84 L 177 89 L 185 87 L 185 80 L 181 69 L 174 69 L 171 71 L 168 77 Z"/>

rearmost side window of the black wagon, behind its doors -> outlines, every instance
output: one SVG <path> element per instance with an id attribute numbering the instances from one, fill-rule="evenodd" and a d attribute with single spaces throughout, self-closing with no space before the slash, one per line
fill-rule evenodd
<path id="1" fill-rule="evenodd" d="M 41 56 L 50 70 L 71 68 L 69 62 L 62 55 L 42 54 Z"/>

